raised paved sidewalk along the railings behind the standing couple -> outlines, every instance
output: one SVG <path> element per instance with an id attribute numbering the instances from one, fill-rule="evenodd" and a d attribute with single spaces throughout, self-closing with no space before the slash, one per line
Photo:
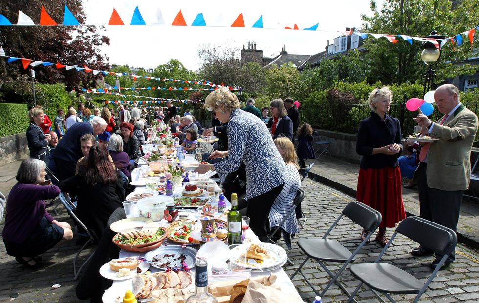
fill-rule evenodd
<path id="1" fill-rule="evenodd" d="M 332 186 L 352 197 L 356 197 L 359 165 L 322 155 L 320 159 L 310 159 L 314 163 L 310 177 Z M 402 188 L 403 202 L 406 212 L 419 216 L 419 195 L 417 187 Z M 461 205 L 459 223 L 457 226 L 459 242 L 479 248 L 479 202 L 464 198 Z"/>

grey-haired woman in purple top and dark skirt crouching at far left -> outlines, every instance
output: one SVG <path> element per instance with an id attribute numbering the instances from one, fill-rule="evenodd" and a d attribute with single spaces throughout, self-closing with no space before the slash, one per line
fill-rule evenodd
<path id="1" fill-rule="evenodd" d="M 26 159 L 17 172 L 18 183 L 8 195 L 8 212 L 2 237 L 10 256 L 27 267 L 36 268 L 39 255 L 54 247 L 60 240 L 71 240 L 70 224 L 58 222 L 45 210 L 44 199 L 60 193 L 55 185 L 45 182 L 45 162 Z"/>

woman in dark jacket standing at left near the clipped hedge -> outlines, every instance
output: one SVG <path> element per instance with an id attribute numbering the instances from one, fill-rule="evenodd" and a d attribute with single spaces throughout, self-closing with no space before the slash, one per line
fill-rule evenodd
<path id="1" fill-rule="evenodd" d="M 40 159 L 48 164 L 50 134 L 45 135 L 40 128 L 40 125 L 44 124 L 45 114 L 40 108 L 34 107 L 28 112 L 28 117 L 30 118 L 30 125 L 26 131 L 26 140 L 28 149 L 30 149 L 30 158 Z"/>

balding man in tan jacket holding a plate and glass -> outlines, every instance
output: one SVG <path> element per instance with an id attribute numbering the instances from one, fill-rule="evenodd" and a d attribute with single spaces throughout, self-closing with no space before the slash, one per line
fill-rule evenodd
<path id="1" fill-rule="evenodd" d="M 452 84 L 437 88 L 434 100 L 444 116 L 434 123 L 420 113 L 414 120 L 423 127 L 422 133 L 439 140 L 422 147 L 421 162 L 413 181 L 419 184 L 421 217 L 456 231 L 462 195 L 469 187 L 471 148 L 478 130 L 478 118 L 460 103 L 459 90 Z M 411 253 L 423 256 L 433 252 L 418 247 Z M 431 267 L 434 268 L 442 257 L 436 252 Z M 453 253 L 443 267 L 454 259 Z"/>

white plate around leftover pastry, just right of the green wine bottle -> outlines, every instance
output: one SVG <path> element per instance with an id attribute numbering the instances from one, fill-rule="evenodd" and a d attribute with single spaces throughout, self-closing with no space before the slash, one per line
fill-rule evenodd
<path id="1" fill-rule="evenodd" d="M 244 259 L 244 254 L 246 253 L 247 247 L 250 244 L 244 244 L 237 246 L 231 250 L 230 262 L 236 266 L 249 268 L 249 269 L 259 269 L 269 270 L 271 268 L 276 268 L 278 265 L 283 263 L 287 259 L 287 253 L 283 247 L 274 245 L 271 243 L 258 243 L 261 248 L 264 248 L 268 251 L 268 254 L 271 258 L 267 258 L 261 265 L 260 264 L 250 264 L 243 262 L 241 259 Z M 245 247 L 246 246 L 246 247 Z M 241 258 L 243 256 L 243 258 Z"/>

